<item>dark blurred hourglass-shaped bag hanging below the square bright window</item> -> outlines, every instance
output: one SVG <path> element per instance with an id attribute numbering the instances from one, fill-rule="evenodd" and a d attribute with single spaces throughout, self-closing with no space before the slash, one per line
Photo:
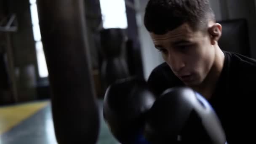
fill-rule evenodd
<path id="1" fill-rule="evenodd" d="M 124 29 L 111 28 L 100 31 L 101 42 L 101 76 L 104 89 L 118 79 L 129 76 L 127 62 L 125 61 L 124 51 L 126 36 Z"/>

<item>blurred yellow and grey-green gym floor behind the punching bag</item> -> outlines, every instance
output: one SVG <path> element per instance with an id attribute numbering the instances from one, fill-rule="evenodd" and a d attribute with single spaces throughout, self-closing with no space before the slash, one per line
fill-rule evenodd
<path id="1" fill-rule="evenodd" d="M 118 144 L 102 117 L 97 144 Z M 57 144 L 51 115 L 50 101 L 0 107 L 0 144 Z"/>

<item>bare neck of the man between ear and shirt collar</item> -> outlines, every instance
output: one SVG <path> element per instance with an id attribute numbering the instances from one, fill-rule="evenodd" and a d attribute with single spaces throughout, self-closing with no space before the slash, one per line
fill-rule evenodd
<path id="1" fill-rule="evenodd" d="M 208 73 L 207 77 L 205 77 L 203 83 L 193 87 L 193 89 L 203 95 L 205 99 L 210 99 L 215 91 L 216 84 L 224 66 L 224 59 L 224 53 L 221 51 L 219 46 L 216 45 L 215 61 L 210 72 Z"/>

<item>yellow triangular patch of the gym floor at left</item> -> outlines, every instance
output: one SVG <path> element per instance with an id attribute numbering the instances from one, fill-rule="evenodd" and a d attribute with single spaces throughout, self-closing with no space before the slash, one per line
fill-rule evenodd
<path id="1" fill-rule="evenodd" d="M 32 116 L 48 103 L 48 101 L 29 102 L 26 104 L 0 107 L 0 135 Z"/>

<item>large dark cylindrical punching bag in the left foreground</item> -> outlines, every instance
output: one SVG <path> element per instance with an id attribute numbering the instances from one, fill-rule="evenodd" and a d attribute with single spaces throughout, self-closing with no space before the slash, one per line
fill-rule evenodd
<path id="1" fill-rule="evenodd" d="M 96 144 L 99 111 L 83 0 L 37 0 L 59 144 Z"/>

